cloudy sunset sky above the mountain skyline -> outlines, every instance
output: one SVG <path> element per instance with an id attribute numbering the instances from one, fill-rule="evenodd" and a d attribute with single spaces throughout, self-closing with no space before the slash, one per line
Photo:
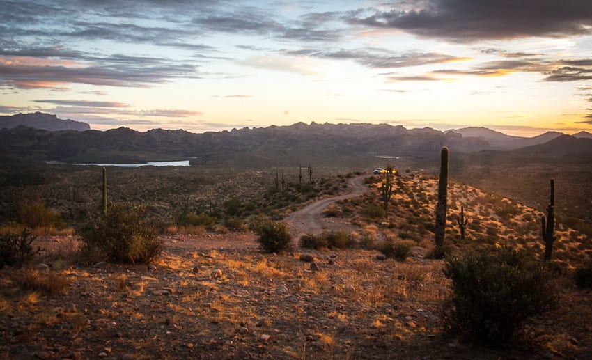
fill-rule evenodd
<path id="1" fill-rule="evenodd" d="M 0 115 L 592 131 L 592 1 L 0 0 Z"/>

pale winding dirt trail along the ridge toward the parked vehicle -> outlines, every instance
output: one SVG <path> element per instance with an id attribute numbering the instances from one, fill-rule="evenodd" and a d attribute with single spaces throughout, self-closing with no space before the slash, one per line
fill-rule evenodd
<path id="1" fill-rule="evenodd" d="M 332 198 L 323 198 L 322 200 L 315 201 L 310 205 L 290 214 L 286 218 L 286 224 L 290 228 L 293 239 L 297 239 L 300 235 L 306 233 L 318 234 L 321 233 L 323 226 L 321 224 L 321 212 L 325 210 L 327 206 L 335 203 L 336 201 L 343 200 L 344 198 L 353 198 L 360 196 L 368 191 L 368 185 L 364 183 L 368 175 L 359 175 L 355 178 L 351 178 L 348 181 L 350 186 L 350 192 L 340 196 L 334 196 Z"/>

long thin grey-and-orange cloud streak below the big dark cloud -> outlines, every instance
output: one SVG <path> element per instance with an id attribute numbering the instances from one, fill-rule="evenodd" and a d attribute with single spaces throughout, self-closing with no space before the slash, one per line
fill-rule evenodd
<path id="1" fill-rule="evenodd" d="M 381 49 L 368 50 L 336 50 L 318 51 L 316 49 L 302 49 L 287 52 L 290 55 L 306 55 L 316 58 L 328 58 L 336 60 L 352 60 L 368 68 L 406 68 L 409 66 L 430 65 L 439 63 L 452 63 L 464 61 L 468 58 L 461 58 L 435 52 L 410 52 L 398 56 L 387 54 Z"/>

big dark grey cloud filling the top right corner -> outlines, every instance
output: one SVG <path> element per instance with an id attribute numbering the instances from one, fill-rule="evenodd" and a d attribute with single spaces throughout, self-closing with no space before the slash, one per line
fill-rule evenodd
<path id="1" fill-rule="evenodd" d="M 591 33 L 592 1 L 423 0 L 413 8 L 366 11 L 349 21 L 457 42 L 575 36 Z"/>

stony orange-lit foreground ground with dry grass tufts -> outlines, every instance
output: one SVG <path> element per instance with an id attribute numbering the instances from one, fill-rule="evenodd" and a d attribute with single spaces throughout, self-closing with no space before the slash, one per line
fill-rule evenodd
<path id="1" fill-rule="evenodd" d="M 3 359 L 535 359 L 592 356 L 590 292 L 561 284 L 559 308 L 520 344 L 491 349 L 444 334 L 442 260 L 375 251 L 262 253 L 249 233 L 169 236 L 150 265 L 70 267 L 36 276 L 63 291 L 24 291 L 1 270 Z M 61 254 L 76 240 L 45 239 Z M 314 265 L 313 265 L 314 264 Z M 49 280 L 47 280 L 49 279 Z"/>

